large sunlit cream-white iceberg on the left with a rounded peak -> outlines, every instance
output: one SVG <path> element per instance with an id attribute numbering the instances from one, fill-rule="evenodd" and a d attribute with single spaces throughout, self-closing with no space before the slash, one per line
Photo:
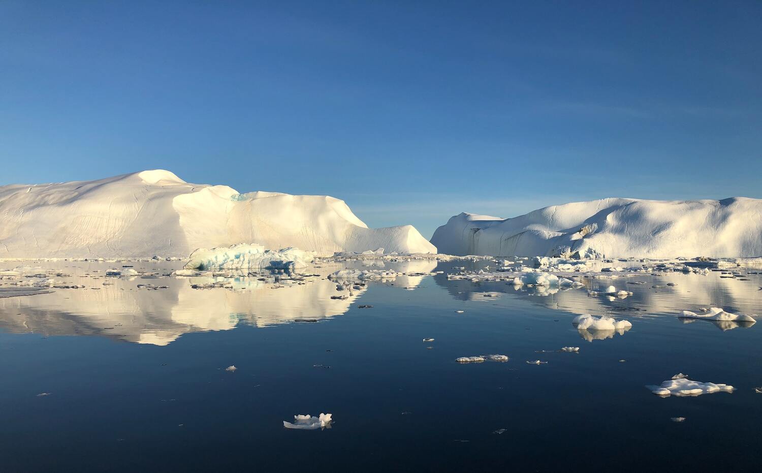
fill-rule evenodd
<path id="1" fill-rule="evenodd" d="M 239 193 L 169 171 L 0 187 L 0 257 L 187 257 L 240 243 L 335 251 L 435 253 L 411 225 L 369 229 L 342 200 Z"/>

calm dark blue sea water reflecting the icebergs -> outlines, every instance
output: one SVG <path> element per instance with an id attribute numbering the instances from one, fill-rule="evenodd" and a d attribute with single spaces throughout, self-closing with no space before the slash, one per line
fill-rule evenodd
<path id="1" fill-rule="evenodd" d="M 113 263 L 31 265 L 86 289 L 0 299 L 2 471 L 760 470 L 762 324 L 676 317 L 712 305 L 762 314 L 758 274 L 585 281 L 634 292 L 613 301 L 438 274 L 335 300 L 325 274 L 339 264 L 303 285 L 239 278 L 229 289 L 94 272 Z M 582 313 L 632 329 L 581 333 L 571 319 Z M 565 346 L 581 349 L 536 353 Z M 455 362 L 483 353 L 510 360 Z M 548 363 L 525 363 L 538 359 Z M 645 388 L 677 372 L 737 389 L 659 398 Z M 330 429 L 283 428 L 321 412 Z"/>

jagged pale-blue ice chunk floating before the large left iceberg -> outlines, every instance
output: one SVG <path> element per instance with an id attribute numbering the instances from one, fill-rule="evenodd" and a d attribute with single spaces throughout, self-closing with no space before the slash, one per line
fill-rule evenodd
<path id="1" fill-rule="evenodd" d="M 187 270 L 296 270 L 315 259 L 312 251 L 298 248 L 267 250 L 261 244 L 234 244 L 229 247 L 199 248 L 191 253 Z"/>

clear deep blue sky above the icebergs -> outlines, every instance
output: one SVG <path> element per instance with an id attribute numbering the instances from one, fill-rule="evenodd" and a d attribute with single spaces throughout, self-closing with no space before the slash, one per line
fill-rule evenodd
<path id="1" fill-rule="evenodd" d="M 0 184 L 461 211 L 762 197 L 762 2 L 0 0 Z"/>

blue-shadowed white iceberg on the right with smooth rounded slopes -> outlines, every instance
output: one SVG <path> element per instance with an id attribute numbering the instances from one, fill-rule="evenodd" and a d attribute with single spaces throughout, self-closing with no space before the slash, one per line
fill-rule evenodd
<path id="1" fill-rule="evenodd" d="M 755 257 L 762 199 L 567 203 L 513 219 L 461 213 L 431 242 L 440 253 L 493 256 Z"/>

